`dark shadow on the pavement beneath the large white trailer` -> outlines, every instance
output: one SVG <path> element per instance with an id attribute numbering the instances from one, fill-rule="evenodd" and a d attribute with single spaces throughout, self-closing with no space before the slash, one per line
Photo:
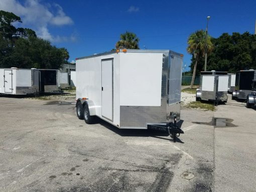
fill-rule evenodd
<path id="1" fill-rule="evenodd" d="M 173 141 L 171 137 L 168 138 L 169 133 L 166 131 L 156 131 L 156 130 L 149 130 L 149 129 L 119 129 L 110 123 L 100 119 L 95 119 L 95 124 L 99 123 L 100 125 L 104 126 L 105 128 L 109 129 L 110 131 L 113 131 L 114 133 L 122 136 L 122 137 L 155 137 L 159 139 L 165 139 Z M 183 123 L 183 120 L 180 120 L 177 125 L 181 127 Z M 176 138 L 176 142 L 184 143 L 181 141 L 178 137 Z"/>

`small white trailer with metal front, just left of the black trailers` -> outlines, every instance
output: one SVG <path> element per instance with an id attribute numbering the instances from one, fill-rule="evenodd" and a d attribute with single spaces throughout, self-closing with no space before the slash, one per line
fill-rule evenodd
<path id="1" fill-rule="evenodd" d="M 228 75 L 223 71 L 202 71 L 196 100 L 227 102 Z"/>

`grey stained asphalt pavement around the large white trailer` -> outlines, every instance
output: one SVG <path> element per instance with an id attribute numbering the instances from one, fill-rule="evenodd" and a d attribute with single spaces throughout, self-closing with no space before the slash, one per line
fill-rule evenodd
<path id="1" fill-rule="evenodd" d="M 174 143 L 87 125 L 71 103 L 0 97 L 0 191 L 256 191 L 255 114 L 232 100 L 182 108 L 185 134 Z"/>

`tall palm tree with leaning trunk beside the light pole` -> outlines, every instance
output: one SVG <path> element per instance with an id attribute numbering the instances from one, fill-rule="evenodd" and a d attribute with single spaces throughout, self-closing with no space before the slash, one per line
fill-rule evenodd
<path id="1" fill-rule="evenodd" d="M 196 60 L 194 69 L 193 69 L 193 76 L 190 84 L 190 88 L 193 87 L 196 75 L 196 66 L 199 60 L 199 55 L 205 55 L 205 39 L 206 39 L 206 32 L 203 30 L 196 31 L 192 33 L 188 38 L 188 53 L 192 54 Z M 207 35 L 207 53 L 210 53 L 213 49 L 213 45 L 211 43 L 211 37 Z"/>

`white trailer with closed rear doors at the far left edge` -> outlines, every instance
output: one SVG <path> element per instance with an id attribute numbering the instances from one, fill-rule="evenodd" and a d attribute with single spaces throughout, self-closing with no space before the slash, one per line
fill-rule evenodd
<path id="1" fill-rule="evenodd" d="M 34 69 L 0 69 L 0 93 L 27 95 L 40 92 L 40 73 Z"/>

